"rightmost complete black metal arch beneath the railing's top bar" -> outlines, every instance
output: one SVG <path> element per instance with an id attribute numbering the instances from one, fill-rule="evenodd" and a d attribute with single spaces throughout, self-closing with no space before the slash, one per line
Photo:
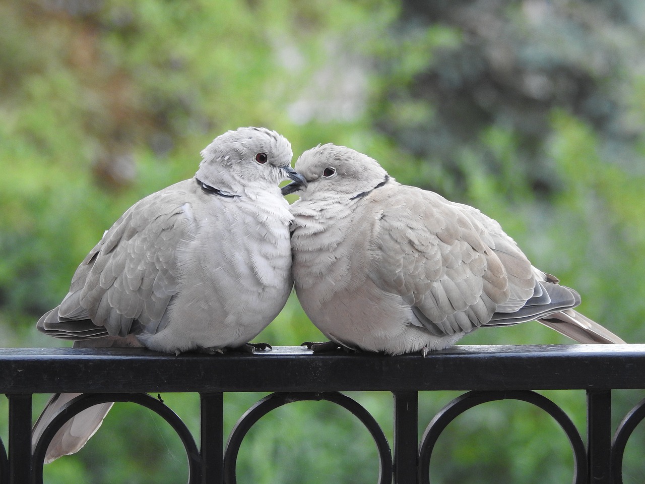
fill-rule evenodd
<path id="1" fill-rule="evenodd" d="M 587 482 L 588 469 L 586 450 L 580 432 L 575 427 L 571 419 L 564 413 L 562 408 L 558 407 L 550 399 L 530 390 L 516 391 L 473 391 L 463 394 L 448 403 L 446 407 L 435 415 L 421 438 L 419 446 L 419 483 L 430 483 L 430 458 L 432 451 L 444 429 L 462 413 L 470 408 L 481 405 L 489 401 L 499 401 L 504 399 L 514 399 L 526 401 L 542 408 L 560 425 L 566 434 L 571 449 L 573 450 L 574 473 L 573 483 L 582 484 Z"/>

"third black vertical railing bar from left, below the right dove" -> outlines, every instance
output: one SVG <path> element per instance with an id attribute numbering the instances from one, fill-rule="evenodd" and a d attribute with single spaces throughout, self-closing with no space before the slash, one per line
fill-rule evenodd
<path id="1" fill-rule="evenodd" d="M 394 394 L 394 483 L 416 484 L 419 452 L 419 396 L 417 392 Z"/>

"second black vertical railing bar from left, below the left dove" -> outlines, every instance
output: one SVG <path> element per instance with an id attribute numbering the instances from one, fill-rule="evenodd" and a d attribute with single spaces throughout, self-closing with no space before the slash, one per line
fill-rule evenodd
<path id="1" fill-rule="evenodd" d="M 202 484 L 224 482 L 224 394 L 201 393 Z"/>

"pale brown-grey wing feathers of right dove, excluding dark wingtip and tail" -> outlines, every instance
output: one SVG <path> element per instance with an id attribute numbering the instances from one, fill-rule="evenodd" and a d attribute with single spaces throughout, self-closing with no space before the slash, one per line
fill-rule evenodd
<path id="1" fill-rule="evenodd" d="M 438 335 L 469 332 L 533 294 L 530 262 L 495 221 L 413 187 L 382 193 L 370 277 L 412 307 L 413 324 Z"/>

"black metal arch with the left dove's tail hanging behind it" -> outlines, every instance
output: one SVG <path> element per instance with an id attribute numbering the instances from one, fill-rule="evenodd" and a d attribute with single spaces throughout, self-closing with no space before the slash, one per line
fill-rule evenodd
<path id="1" fill-rule="evenodd" d="M 43 434 L 39 439 L 32 456 L 32 466 L 34 472 L 34 483 L 43 483 L 43 463 L 45 461 L 45 454 L 50 442 L 54 438 L 56 432 L 63 427 L 64 423 L 75 415 L 83 412 L 86 408 L 94 407 L 101 403 L 110 401 L 119 402 L 132 402 L 142 405 L 143 407 L 150 408 L 153 412 L 161 416 L 171 427 L 177 432 L 186 450 L 186 457 L 188 458 L 188 484 L 197 484 L 201 482 L 201 458 L 197 444 L 193 438 L 190 430 L 186 427 L 183 421 L 168 408 L 161 403 L 157 398 L 154 398 L 144 393 L 128 393 L 128 394 L 81 394 L 76 398 L 70 400 L 68 403 L 60 408 L 52 422 L 43 430 Z"/>

